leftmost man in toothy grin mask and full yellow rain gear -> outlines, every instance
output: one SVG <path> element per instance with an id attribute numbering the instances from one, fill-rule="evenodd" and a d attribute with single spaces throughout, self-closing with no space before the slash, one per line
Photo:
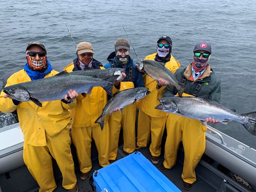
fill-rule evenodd
<path id="1" fill-rule="evenodd" d="M 27 63 L 24 69 L 7 79 L 7 86 L 33 81 L 58 74 L 47 59 L 44 45 L 37 41 L 28 44 Z M 43 85 L 42 85 L 43 86 Z M 42 87 L 41 89 L 47 88 Z M 3 91 L 0 95 L 0 111 L 11 113 L 17 110 L 20 128 L 24 135 L 23 158 L 29 172 L 39 185 L 39 191 L 53 191 L 57 185 L 54 180 L 52 157 L 62 173 L 62 186 L 70 192 L 78 191 L 74 162 L 71 154 L 69 136 L 71 114 L 78 94 L 70 90 L 62 100 L 45 101 L 42 108 L 34 102 L 20 102 Z"/>

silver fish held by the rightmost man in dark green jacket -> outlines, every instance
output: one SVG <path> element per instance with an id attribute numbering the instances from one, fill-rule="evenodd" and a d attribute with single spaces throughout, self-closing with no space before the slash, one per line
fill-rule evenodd
<path id="1" fill-rule="evenodd" d="M 238 121 L 250 134 L 256 135 L 256 112 L 238 114 L 220 104 L 196 97 L 165 97 L 158 100 L 160 104 L 155 109 L 198 119 L 204 124 L 206 124 L 206 118 L 209 117 L 223 124 L 232 120 Z"/>

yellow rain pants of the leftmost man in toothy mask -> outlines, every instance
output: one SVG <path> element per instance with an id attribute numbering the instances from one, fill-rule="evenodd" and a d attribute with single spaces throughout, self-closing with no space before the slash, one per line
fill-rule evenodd
<path id="1" fill-rule="evenodd" d="M 65 189 L 71 189 L 76 185 L 69 130 L 70 125 L 54 138 L 46 133 L 46 146 L 33 146 L 24 143 L 24 162 L 37 181 L 40 187 L 39 192 L 53 191 L 57 187 L 53 176 L 52 157 L 56 160 L 62 174 L 62 186 Z"/>

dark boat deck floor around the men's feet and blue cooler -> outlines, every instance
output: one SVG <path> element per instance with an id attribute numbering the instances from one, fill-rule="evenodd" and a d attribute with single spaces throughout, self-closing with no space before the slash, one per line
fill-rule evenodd
<path id="1" fill-rule="evenodd" d="M 120 135 L 120 138 L 121 137 L 122 136 Z M 164 143 L 162 144 L 162 146 L 164 146 Z M 129 155 L 123 152 L 122 147 L 123 147 L 122 143 L 119 143 L 117 160 Z M 88 179 L 83 181 L 80 180 L 80 177 L 79 177 L 79 165 L 78 165 L 77 157 L 75 154 L 75 147 L 73 144 L 71 145 L 71 148 L 72 148 L 72 154 L 74 157 L 74 163 L 76 168 L 75 172 L 76 172 L 78 187 L 79 187 L 78 191 L 79 192 L 93 191 L 92 187 L 89 184 L 89 178 L 92 176 L 94 170 L 98 170 L 101 168 L 98 163 L 98 158 L 97 158 L 98 154 L 97 154 L 95 144 L 92 143 L 93 167 L 89 174 Z M 157 168 L 163 161 L 163 154 L 164 154 L 163 150 L 164 149 L 162 148 L 159 164 L 155 165 Z M 149 161 L 151 161 L 151 155 L 150 155 L 148 146 L 144 148 L 140 148 L 137 151 L 142 153 Z M 184 159 L 184 153 L 183 153 L 183 148 L 181 146 L 178 152 L 178 159 L 177 159 L 176 165 L 172 169 L 168 169 L 165 172 L 161 172 L 161 173 L 164 174 L 170 181 L 172 181 L 181 191 L 186 191 L 183 188 L 183 181 L 181 179 L 183 159 Z M 230 177 L 228 177 L 223 172 L 221 172 L 218 166 L 219 164 L 217 164 L 215 161 L 212 161 L 210 158 L 207 158 L 207 156 L 203 156 L 199 165 L 196 168 L 197 181 L 193 184 L 190 191 L 191 192 L 194 192 L 194 191 L 197 191 L 197 192 L 201 192 L 201 191 L 256 192 L 256 189 L 249 190 L 246 187 L 239 184 L 238 182 L 232 180 Z M 53 167 L 54 167 L 55 180 L 57 183 L 57 188 L 55 189 L 55 191 L 56 192 L 67 191 L 61 185 L 61 182 L 62 182 L 61 173 L 55 161 L 53 161 Z M 19 191 L 32 192 L 32 191 L 38 191 L 38 188 L 39 187 L 37 183 L 32 178 L 32 176 L 28 172 L 28 169 L 25 165 L 12 170 L 11 172 L 0 175 L 0 192 L 12 192 L 12 191 L 13 192 L 19 192 Z"/>

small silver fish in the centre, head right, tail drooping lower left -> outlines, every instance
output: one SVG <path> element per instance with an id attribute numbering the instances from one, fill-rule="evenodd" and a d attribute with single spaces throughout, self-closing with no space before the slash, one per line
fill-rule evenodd
<path id="1" fill-rule="evenodd" d="M 99 123 L 101 130 L 103 129 L 105 116 L 111 114 L 115 109 L 119 108 L 122 112 L 122 108 L 129 104 L 134 103 L 135 101 L 142 99 L 146 95 L 150 94 L 150 91 L 147 91 L 148 88 L 132 88 L 126 89 L 120 92 L 117 92 L 113 97 L 106 103 L 102 114 L 95 121 Z"/>

